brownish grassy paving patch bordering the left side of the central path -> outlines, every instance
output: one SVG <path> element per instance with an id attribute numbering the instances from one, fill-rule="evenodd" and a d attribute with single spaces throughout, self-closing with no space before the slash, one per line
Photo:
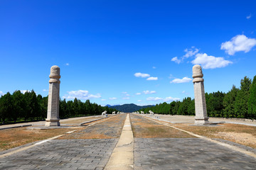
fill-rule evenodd
<path id="1" fill-rule="evenodd" d="M 100 123 L 90 127 L 85 126 L 82 130 L 59 137 L 58 139 L 110 139 L 120 137 L 126 116 L 126 114 L 121 114 L 106 120 L 98 120 L 97 122 Z"/>

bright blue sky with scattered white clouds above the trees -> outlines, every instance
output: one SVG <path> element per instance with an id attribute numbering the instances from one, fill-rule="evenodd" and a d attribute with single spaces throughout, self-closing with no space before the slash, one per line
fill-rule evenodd
<path id="1" fill-rule="evenodd" d="M 106 104 L 193 98 L 192 67 L 205 91 L 228 92 L 256 75 L 256 1 L 2 1 L 0 95 L 48 95 Z"/>

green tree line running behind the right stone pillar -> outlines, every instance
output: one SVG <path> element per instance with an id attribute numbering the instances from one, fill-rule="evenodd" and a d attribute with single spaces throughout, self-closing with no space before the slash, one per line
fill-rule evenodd
<path id="1" fill-rule="evenodd" d="M 221 91 L 206 93 L 206 107 L 209 117 L 222 118 L 250 118 L 256 119 L 256 76 L 253 81 L 244 77 L 240 81 L 240 88 L 234 85 L 228 93 Z M 195 99 L 183 98 L 183 101 L 160 103 L 139 111 L 170 115 L 195 115 Z"/>

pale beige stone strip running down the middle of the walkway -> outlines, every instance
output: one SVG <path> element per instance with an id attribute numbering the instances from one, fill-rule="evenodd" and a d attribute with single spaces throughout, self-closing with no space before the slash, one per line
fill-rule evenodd
<path id="1" fill-rule="evenodd" d="M 105 166 L 106 170 L 126 170 L 134 169 L 134 137 L 129 114 L 124 122 L 122 134 L 114 148 L 109 162 Z"/>

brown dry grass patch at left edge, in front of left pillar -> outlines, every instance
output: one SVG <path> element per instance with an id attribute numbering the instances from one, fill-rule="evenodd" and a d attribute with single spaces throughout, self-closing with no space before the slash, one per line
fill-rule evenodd
<path id="1" fill-rule="evenodd" d="M 29 142 L 45 140 L 68 131 L 70 129 L 26 130 L 26 128 L 14 128 L 0 130 L 0 151 L 25 145 Z"/>

